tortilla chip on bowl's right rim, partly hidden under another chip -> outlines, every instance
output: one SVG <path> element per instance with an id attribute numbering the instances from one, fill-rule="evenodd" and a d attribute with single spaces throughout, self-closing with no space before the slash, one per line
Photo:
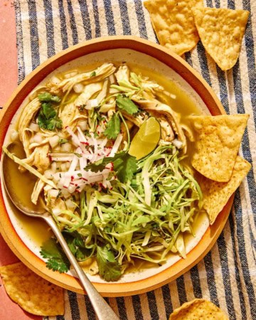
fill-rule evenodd
<path id="1" fill-rule="evenodd" d="M 204 178 L 201 181 L 201 188 L 203 192 L 203 208 L 210 218 L 212 225 L 221 210 L 223 210 L 228 199 L 238 188 L 242 179 L 245 178 L 250 171 L 251 165 L 245 159 L 237 156 L 233 174 L 228 182 L 217 182 Z"/>

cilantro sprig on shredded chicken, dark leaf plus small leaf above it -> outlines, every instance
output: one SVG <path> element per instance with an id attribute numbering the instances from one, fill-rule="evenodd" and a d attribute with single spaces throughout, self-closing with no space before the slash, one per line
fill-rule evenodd
<path id="1" fill-rule="evenodd" d="M 62 120 L 58 117 L 56 107 L 53 106 L 53 102 L 60 102 L 60 97 L 51 95 L 49 92 L 42 92 L 38 95 L 38 99 L 41 102 L 41 109 L 38 114 L 39 127 L 50 131 L 62 129 Z"/>

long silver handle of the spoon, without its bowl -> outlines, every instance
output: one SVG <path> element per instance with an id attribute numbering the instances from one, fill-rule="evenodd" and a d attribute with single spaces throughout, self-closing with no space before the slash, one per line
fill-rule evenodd
<path id="1" fill-rule="evenodd" d="M 102 298 L 99 292 L 97 292 L 95 287 L 87 278 L 85 272 L 78 264 L 73 253 L 70 251 L 67 242 L 63 238 L 62 233 L 60 232 L 58 226 L 53 220 L 53 217 L 51 217 L 50 215 L 45 215 L 43 216 L 43 218 L 44 220 L 46 220 L 46 223 L 50 225 L 50 228 L 52 228 L 53 232 L 55 233 L 55 236 L 59 240 L 60 245 L 63 247 L 63 250 L 65 251 L 65 254 L 68 257 L 68 260 L 70 260 L 71 265 L 73 265 L 75 272 L 78 274 L 80 282 L 82 283 L 82 287 L 85 289 L 85 292 L 87 292 L 87 296 L 90 299 L 90 302 L 92 303 L 93 309 L 95 309 L 95 313 L 97 314 L 99 320 L 118 320 L 119 318 L 117 317 L 117 315 L 111 309 L 109 304 L 105 302 L 105 299 Z"/>

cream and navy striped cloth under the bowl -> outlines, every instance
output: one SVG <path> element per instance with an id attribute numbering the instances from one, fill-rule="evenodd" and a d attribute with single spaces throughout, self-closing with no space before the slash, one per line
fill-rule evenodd
<path id="1" fill-rule="evenodd" d="M 50 56 L 90 38 L 125 34 L 157 41 L 141 0 L 16 0 L 14 5 L 19 82 Z M 240 154 L 255 164 L 256 23 L 252 21 L 256 2 L 207 0 L 205 6 L 251 12 L 240 59 L 232 70 L 220 70 L 201 42 L 184 58 L 213 87 L 226 112 L 250 114 Z M 256 319 L 255 195 L 255 175 L 251 169 L 235 193 L 228 223 L 208 255 L 160 289 L 106 299 L 119 318 L 168 319 L 183 302 L 203 297 L 220 306 L 230 319 Z M 65 299 L 65 316 L 46 319 L 96 319 L 87 297 L 67 291 Z"/>

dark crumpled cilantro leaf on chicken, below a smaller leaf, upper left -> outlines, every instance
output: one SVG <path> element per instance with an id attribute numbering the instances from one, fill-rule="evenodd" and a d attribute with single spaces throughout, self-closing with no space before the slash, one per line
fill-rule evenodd
<path id="1" fill-rule="evenodd" d="M 38 114 L 38 125 L 42 129 L 53 131 L 62 129 L 62 120 L 58 117 L 54 107 L 49 102 L 43 102 Z"/>

